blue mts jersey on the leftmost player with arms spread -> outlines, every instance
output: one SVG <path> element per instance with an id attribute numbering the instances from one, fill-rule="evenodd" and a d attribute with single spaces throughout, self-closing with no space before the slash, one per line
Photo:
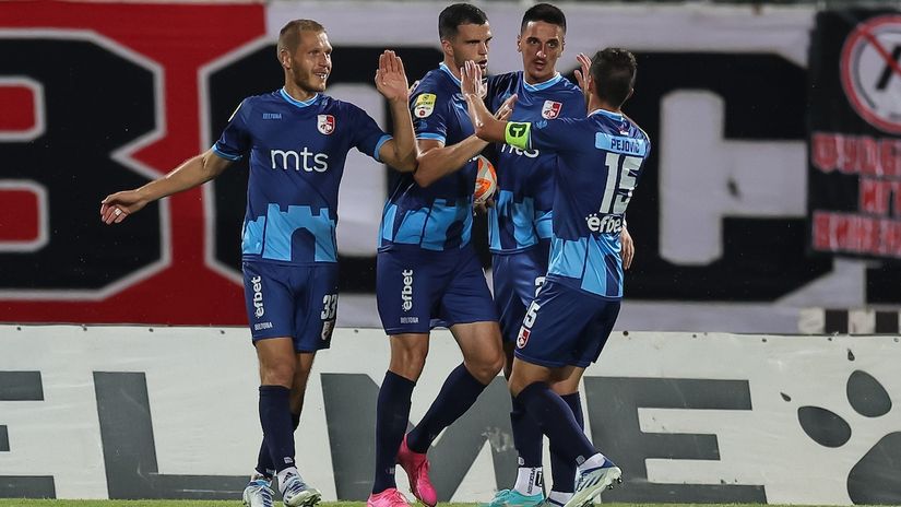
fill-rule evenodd
<path id="1" fill-rule="evenodd" d="M 389 139 L 366 111 L 328 95 L 299 102 L 282 89 L 246 98 L 213 145 L 229 161 L 250 154 L 244 260 L 336 262 L 347 152 L 356 148 L 379 161 Z"/>

